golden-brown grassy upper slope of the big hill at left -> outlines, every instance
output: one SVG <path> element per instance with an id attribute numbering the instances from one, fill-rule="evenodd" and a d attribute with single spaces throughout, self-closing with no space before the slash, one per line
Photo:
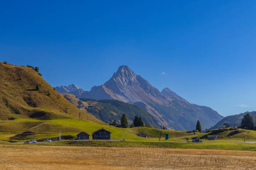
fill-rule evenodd
<path id="1" fill-rule="evenodd" d="M 68 102 L 30 67 L 0 62 L 0 77 L 0 120 L 68 119 L 80 114 L 103 123 Z"/>

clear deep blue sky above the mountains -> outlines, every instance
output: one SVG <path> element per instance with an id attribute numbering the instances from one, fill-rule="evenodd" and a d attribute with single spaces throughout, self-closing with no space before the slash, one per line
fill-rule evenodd
<path id="1" fill-rule="evenodd" d="M 226 116 L 256 110 L 255 18 L 254 0 L 3 1 L 0 60 L 84 90 L 128 65 Z"/>

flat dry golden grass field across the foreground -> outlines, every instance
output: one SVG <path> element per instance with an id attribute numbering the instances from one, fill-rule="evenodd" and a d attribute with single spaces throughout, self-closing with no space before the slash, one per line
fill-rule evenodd
<path id="1" fill-rule="evenodd" d="M 255 170 L 256 152 L 0 145 L 0 170 Z"/>

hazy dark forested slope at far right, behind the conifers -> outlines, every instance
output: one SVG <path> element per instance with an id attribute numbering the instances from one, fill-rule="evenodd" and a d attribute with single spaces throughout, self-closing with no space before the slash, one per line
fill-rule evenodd
<path id="1" fill-rule="evenodd" d="M 227 117 L 224 117 L 222 120 L 220 120 L 216 125 L 210 128 L 211 129 L 219 129 L 223 128 L 224 123 L 229 123 L 230 127 L 234 127 L 235 125 L 240 126 L 241 125 L 241 120 L 243 119 L 243 116 L 247 112 L 241 113 L 239 115 L 230 115 Z M 253 118 L 254 118 L 254 124 L 256 125 L 256 112 L 249 112 Z"/>

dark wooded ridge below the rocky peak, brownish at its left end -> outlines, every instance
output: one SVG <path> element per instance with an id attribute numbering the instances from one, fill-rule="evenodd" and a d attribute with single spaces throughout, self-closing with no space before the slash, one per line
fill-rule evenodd
<path id="1" fill-rule="evenodd" d="M 87 113 L 95 116 L 97 119 L 103 122 L 109 123 L 116 120 L 120 124 L 120 118 L 125 113 L 128 124 L 134 119 L 135 115 L 142 117 L 142 120 L 147 125 L 153 125 L 155 128 L 161 128 L 158 121 L 148 112 L 141 109 L 136 105 L 131 105 L 119 100 L 94 100 L 89 98 L 78 99 L 75 95 L 64 93 L 63 95 L 69 102 L 72 102 L 75 106 L 81 108 Z M 80 103 L 80 104 L 79 104 Z M 83 104 L 81 106 L 81 103 Z"/>

